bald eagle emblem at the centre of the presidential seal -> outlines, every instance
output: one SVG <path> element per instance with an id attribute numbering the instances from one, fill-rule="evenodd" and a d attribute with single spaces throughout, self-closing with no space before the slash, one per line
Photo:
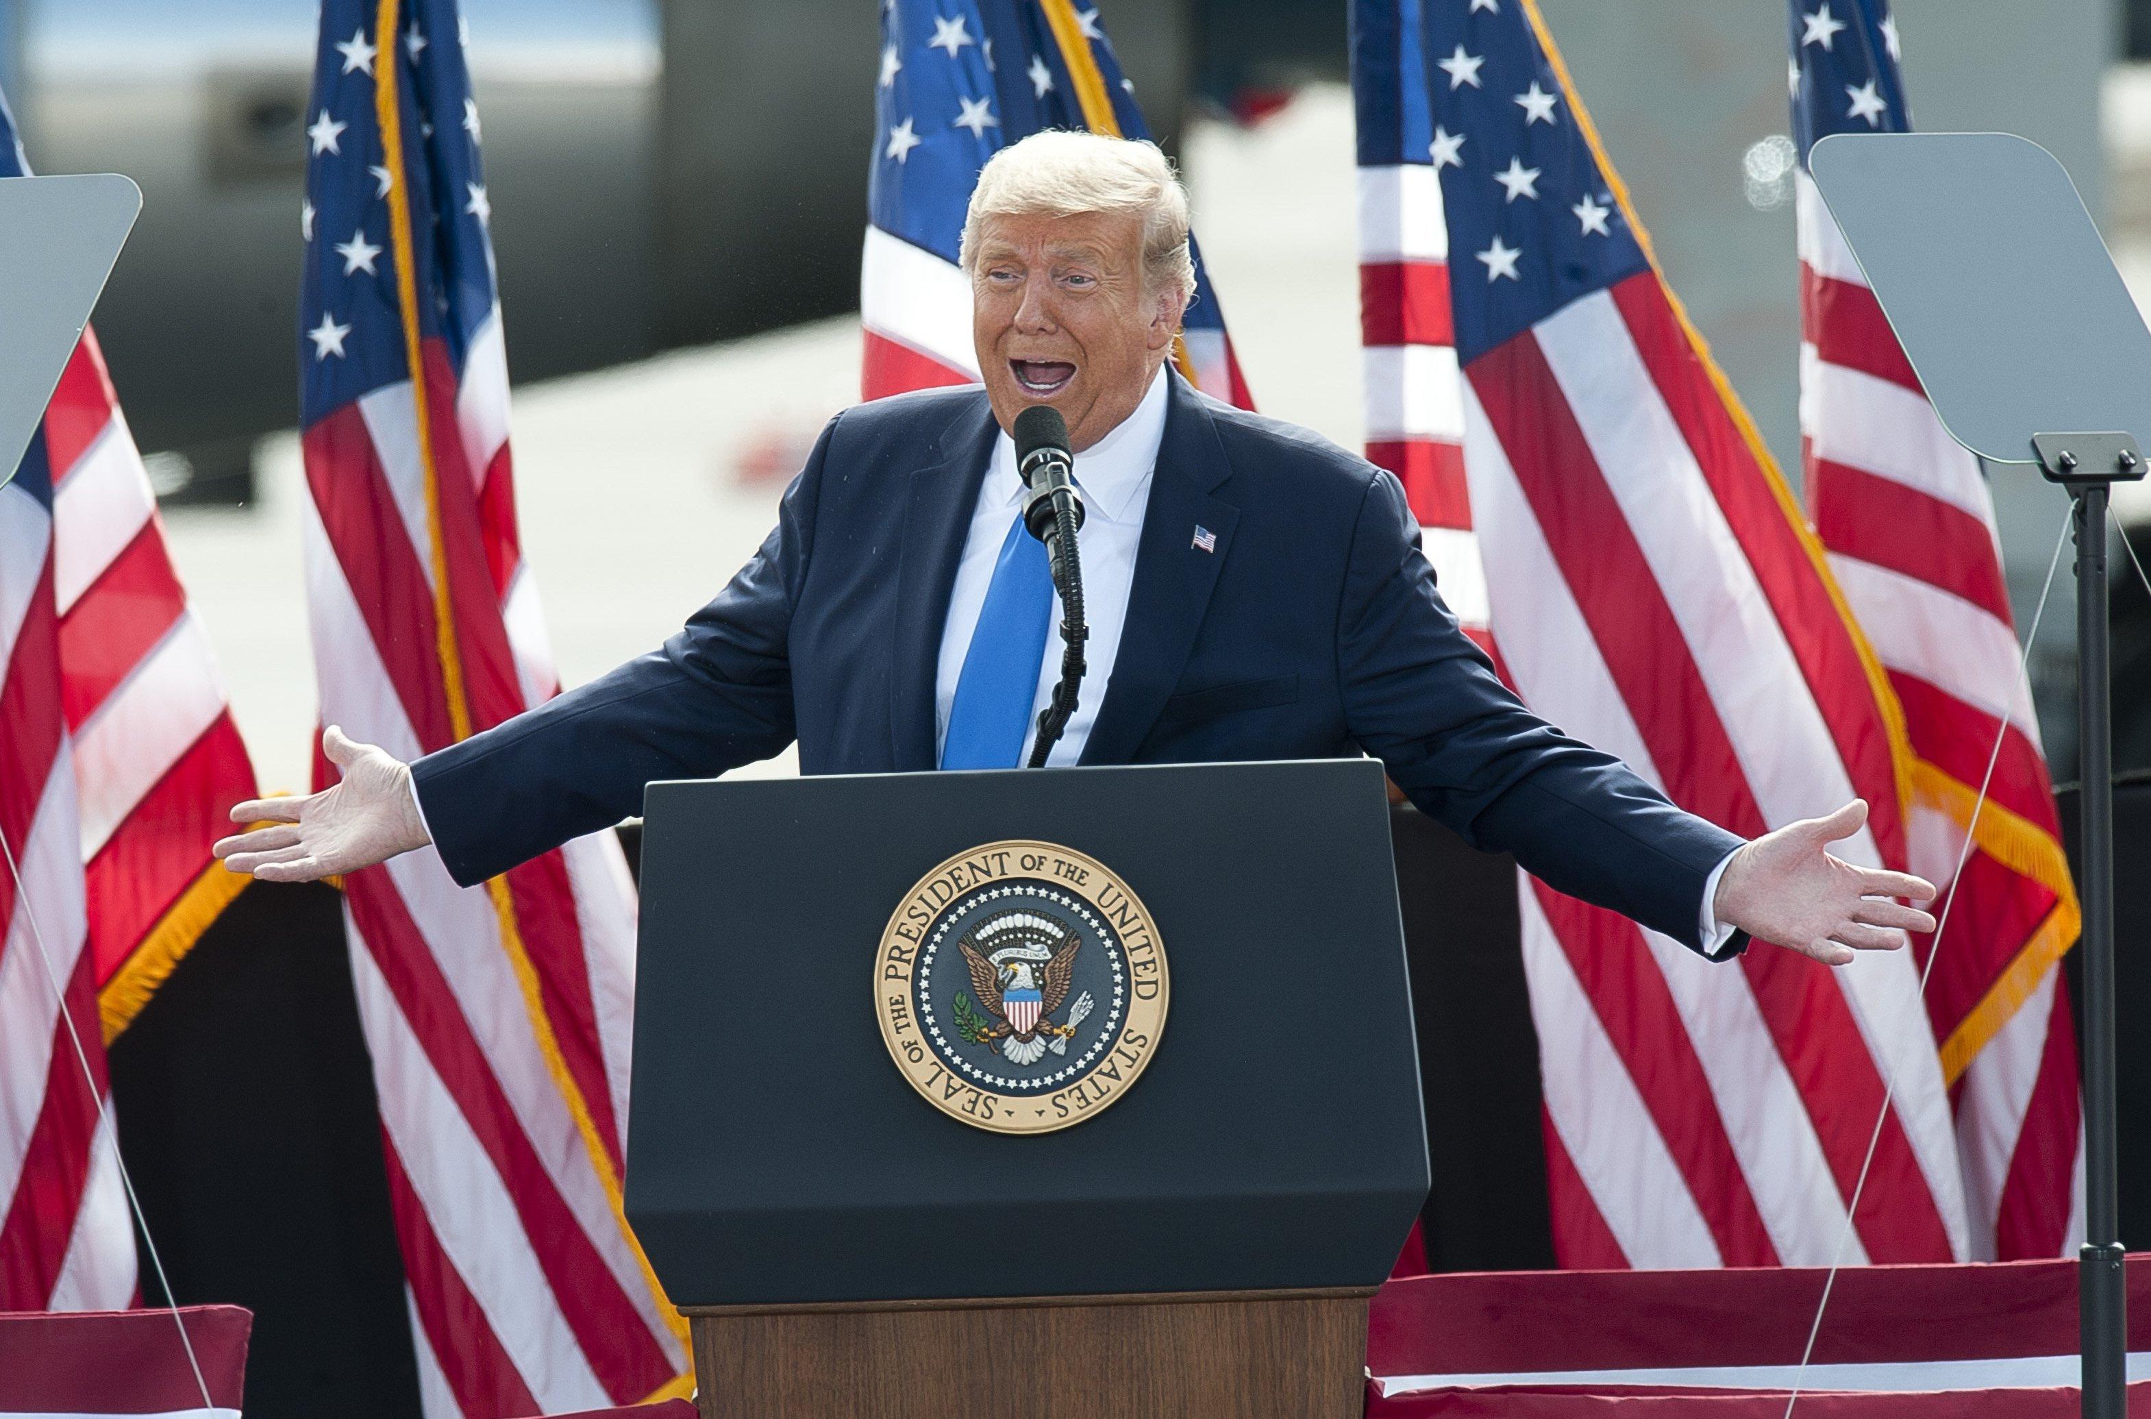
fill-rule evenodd
<path id="1" fill-rule="evenodd" d="M 957 950 L 970 968 L 983 1015 L 959 991 L 957 1032 L 1011 1064 L 1037 1064 L 1048 1049 L 1067 1054 L 1076 1028 L 1091 1015 L 1091 991 L 1084 991 L 1069 1006 L 1067 1021 L 1054 1021 L 1076 980 L 1080 948 L 1082 937 L 1073 929 L 1037 912 L 996 912 L 981 920 L 957 942 Z"/>

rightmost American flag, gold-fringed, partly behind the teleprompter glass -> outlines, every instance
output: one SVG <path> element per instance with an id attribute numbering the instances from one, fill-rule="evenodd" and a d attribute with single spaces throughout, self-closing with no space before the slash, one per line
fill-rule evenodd
<path id="1" fill-rule="evenodd" d="M 1792 0 L 1800 456 L 1831 570 L 1904 705 L 1912 871 L 1949 890 L 1972 826 L 1927 983 L 1972 1256 L 2061 1256 L 2082 1241 L 2076 1026 L 2059 970 L 2078 907 L 1994 503 L 1979 460 L 1934 417 L 1807 174 L 1818 138 L 1912 127 L 1897 47 L 1884 0 Z"/>

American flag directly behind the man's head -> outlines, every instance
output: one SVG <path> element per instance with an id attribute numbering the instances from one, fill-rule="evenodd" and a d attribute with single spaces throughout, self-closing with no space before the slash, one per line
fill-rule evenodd
<path id="1" fill-rule="evenodd" d="M 1039 129 L 1149 138 L 1097 11 L 1069 0 L 888 0 L 873 112 L 858 277 L 869 400 L 979 378 L 970 280 L 955 258 L 985 159 Z M 1252 408 L 1202 254 L 1194 256 L 1196 299 L 1174 363 L 1196 389 Z"/>

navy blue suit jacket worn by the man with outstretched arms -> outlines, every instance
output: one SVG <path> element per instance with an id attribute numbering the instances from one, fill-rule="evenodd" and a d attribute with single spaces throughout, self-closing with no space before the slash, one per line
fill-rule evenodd
<path id="1" fill-rule="evenodd" d="M 994 434 L 979 387 L 830 419 L 761 550 L 663 649 L 413 765 L 450 873 L 482 882 L 639 813 L 652 778 L 792 740 L 807 774 L 936 768 L 942 621 Z M 1082 763 L 1366 750 L 1473 845 L 1689 946 L 1740 843 L 1501 688 L 1392 475 L 1179 376 L 1099 692 Z"/>

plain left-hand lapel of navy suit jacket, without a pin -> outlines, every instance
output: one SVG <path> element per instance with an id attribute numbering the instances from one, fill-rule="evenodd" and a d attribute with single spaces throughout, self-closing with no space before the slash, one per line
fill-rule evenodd
<path id="1" fill-rule="evenodd" d="M 979 505 L 979 484 L 994 454 L 994 411 L 985 391 L 940 436 L 936 462 L 912 473 L 903 507 L 903 559 L 897 574 L 897 636 L 888 671 L 888 727 L 899 772 L 931 770 L 934 673 L 940 664 L 949 593 L 964 557 L 964 533 Z"/>

